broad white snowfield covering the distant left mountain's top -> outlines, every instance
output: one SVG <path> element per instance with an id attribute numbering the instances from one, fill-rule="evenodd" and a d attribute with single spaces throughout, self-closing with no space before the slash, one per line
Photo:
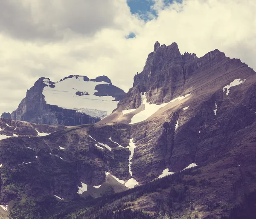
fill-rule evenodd
<path id="1" fill-rule="evenodd" d="M 49 87 L 49 80 L 44 79 L 47 85 L 44 87 L 43 95 L 45 101 L 50 105 L 61 108 L 74 109 L 86 113 L 92 117 L 105 117 L 112 113 L 117 107 L 118 101 L 111 96 L 95 96 L 96 85 L 109 84 L 107 82 L 84 81 L 84 77 L 72 77 L 55 83 L 55 87 Z M 76 92 L 84 95 L 77 95 Z"/>

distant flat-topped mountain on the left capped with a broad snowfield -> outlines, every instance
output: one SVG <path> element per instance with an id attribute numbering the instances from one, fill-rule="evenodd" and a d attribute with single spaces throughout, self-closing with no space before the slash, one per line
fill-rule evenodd
<path id="1" fill-rule="evenodd" d="M 40 78 L 17 110 L 1 117 L 48 125 L 95 123 L 111 114 L 124 95 L 106 76 L 70 75 L 57 83 Z"/>

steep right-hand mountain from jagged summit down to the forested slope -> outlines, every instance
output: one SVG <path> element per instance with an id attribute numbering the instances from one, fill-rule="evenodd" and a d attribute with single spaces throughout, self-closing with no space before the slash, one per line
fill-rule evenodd
<path id="1" fill-rule="evenodd" d="M 238 133 L 256 119 L 255 85 L 253 69 L 218 50 L 197 58 L 157 42 L 119 108 L 99 123 L 131 125 L 131 167 L 145 183 L 165 169 L 216 162 L 242 144 Z"/>

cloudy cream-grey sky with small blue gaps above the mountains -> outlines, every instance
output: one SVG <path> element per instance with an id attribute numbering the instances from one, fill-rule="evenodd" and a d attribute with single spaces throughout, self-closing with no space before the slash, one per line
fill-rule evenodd
<path id="1" fill-rule="evenodd" d="M 156 41 L 256 70 L 255 11 L 255 0 L 1 0 L 0 114 L 40 77 L 106 75 L 128 91 Z"/>

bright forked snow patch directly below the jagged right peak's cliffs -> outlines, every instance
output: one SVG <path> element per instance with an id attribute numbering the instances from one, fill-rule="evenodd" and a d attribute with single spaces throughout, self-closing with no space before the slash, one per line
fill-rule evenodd
<path id="1" fill-rule="evenodd" d="M 142 104 L 145 105 L 145 109 L 143 111 L 140 111 L 136 115 L 134 115 L 131 118 L 130 124 L 134 124 L 134 123 L 137 123 L 137 122 L 142 122 L 142 121 L 148 119 L 148 117 L 150 117 L 151 115 L 156 113 L 160 108 L 166 106 L 170 102 L 175 102 L 176 100 L 178 100 L 178 101 L 183 100 L 184 98 L 188 97 L 190 94 L 186 94 L 185 96 L 177 97 L 177 98 L 171 100 L 170 102 L 162 103 L 160 105 L 157 105 L 157 104 L 154 104 L 154 103 L 149 104 L 147 102 L 146 93 L 144 95 L 142 95 L 142 93 L 141 93 L 140 95 L 141 95 Z"/>

